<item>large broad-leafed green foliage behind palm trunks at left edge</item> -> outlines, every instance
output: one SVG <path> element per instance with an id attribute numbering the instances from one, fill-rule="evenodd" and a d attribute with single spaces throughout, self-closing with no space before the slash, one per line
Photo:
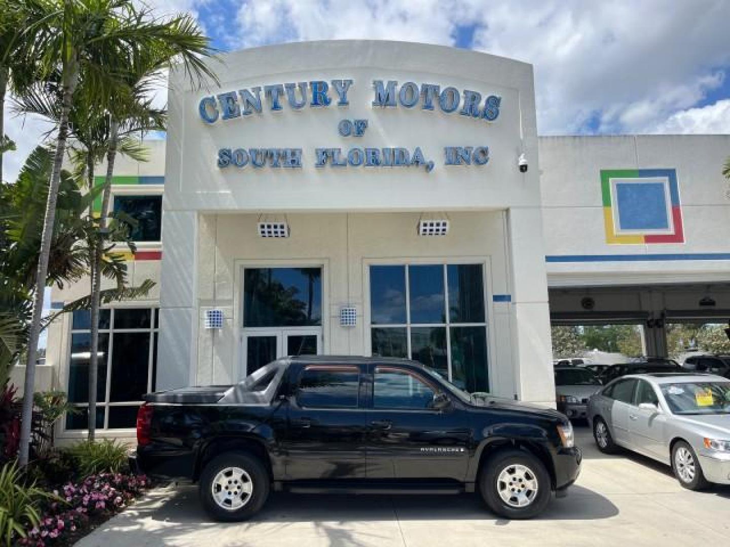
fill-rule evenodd
<path id="1" fill-rule="evenodd" d="M 30 295 L 39 255 L 42 212 L 45 207 L 53 151 L 38 147 L 20 171 L 17 182 L 0 185 L 0 387 L 7 380 L 9 368 L 26 349 L 30 322 Z M 49 284 L 63 287 L 79 282 L 96 260 L 93 251 L 99 244 L 96 220 L 89 209 L 99 198 L 101 188 L 82 189 L 81 179 L 68 171 L 61 172 L 53 245 L 48 268 Z M 124 239 L 126 225 L 112 222 L 114 239 Z M 128 242 L 134 246 L 133 242 Z M 147 279 L 138 287 L 128 286 L 127 265 L 112 245 L 102 247 L 101 275 L 115 281 L 115 287 L 101 292 L 101 301 L 141 298 L 154 282 Z M 42 322 L 42 328 L 63 313 L 89 309 L 91 295 L 66 304 Z"/>

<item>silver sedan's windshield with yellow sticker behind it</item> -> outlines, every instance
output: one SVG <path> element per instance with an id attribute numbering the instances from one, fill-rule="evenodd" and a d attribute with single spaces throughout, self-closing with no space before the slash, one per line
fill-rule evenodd
<path id="1" fill-rule="evenodd" d="M 730 414 L 730 382 L 661 384 L 672 414 Z"/>

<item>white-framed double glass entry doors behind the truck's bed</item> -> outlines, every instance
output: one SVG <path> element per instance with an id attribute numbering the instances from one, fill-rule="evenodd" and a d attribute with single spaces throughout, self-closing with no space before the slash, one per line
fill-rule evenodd
<path id="1" fill-rule="evenodd" d="M 242 335 L 241 377 L 279 357 L 317 355 L 322 349 L 322 327 L 248 330 Z"/>

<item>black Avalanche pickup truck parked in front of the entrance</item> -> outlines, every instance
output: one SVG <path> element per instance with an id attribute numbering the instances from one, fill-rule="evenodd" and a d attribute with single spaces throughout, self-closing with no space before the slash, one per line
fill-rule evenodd
<path id="1" fill-rule="evenodd" d="M 271 489 L 482 494 L 499 516 L 537 515 L 580 473 L 557 411 L 469 395 L 401 359 L 286 357 L 234 386 L 145 396 L 136 461 L 199 483 L 221 521 L 247 519 Z"/>

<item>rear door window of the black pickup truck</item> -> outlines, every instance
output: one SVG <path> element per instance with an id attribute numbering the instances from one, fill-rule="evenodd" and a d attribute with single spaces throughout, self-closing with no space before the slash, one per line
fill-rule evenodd
<path id="1" fill-rule="evenodd" d="M 359 389 L 357 367 L 307 367 L 299 379 L 296 403 L 305 408 L 357 408 Z"/>

